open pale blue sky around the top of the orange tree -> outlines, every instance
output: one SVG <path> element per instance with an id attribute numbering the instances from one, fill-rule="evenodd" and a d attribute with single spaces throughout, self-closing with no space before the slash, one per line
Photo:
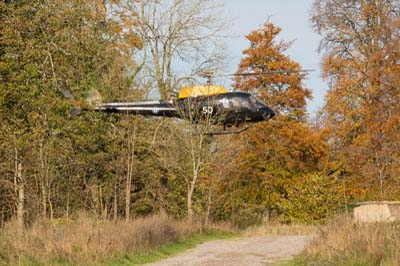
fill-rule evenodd
<path id="1" fill-rule="evenodd" d="M 303 69 L 314 69 L 304 82 L 312 90 L 313 100 L 307 104 L 310 115 L 314 115 L 322 107 L 328 88 L 321 79 L 318 53 L 320 42 L 309 21 L 309 11 L 313 0 L 220 0 L 226 14 L 232 19 L 230 31 L 235 37 L 228 42 L 231 73 L 235 72 L 242 57 L 242 51 L 249 46 L 244 37 L 267 21 L 282 28 L 280 39 L 294 40 L 292 48 L 287 51 L 291 59 L 300 63 Z"/>

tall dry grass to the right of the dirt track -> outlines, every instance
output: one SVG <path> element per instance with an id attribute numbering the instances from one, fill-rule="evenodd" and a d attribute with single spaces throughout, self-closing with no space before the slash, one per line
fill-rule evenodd
<path id="1" fill-rule="evenodd" d="M 400 222 L 355 224 L 340 217 L 322 226 L 293 265 L 400 265 Z"/>

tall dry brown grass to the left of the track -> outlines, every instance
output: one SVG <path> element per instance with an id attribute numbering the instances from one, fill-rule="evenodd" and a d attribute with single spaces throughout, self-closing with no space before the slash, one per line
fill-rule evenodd
<path id="1" fill-rule="evenodd" d="M 143 251 L 199 233 L 198 223 L 179 222 L 165 215 L 129 223 L 99 221 L 86 215 L 77 220 L 42 220 L 18 235 L 10 223 L 0 232 L 3 263 L 88 265 L 106 257 Z M 214 226 L 214 229 L 221 229 Z M 22 263 L 24 264 L 24 263 Z"/>

